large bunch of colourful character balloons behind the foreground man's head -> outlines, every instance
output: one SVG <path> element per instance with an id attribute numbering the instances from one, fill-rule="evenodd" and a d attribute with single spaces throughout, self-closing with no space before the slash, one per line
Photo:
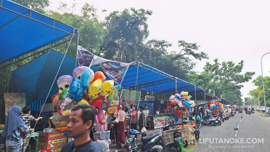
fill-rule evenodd
<path id="1" fill-rule="evenodd" d="M 53 123 L 64 127 L 66 117 L 77 104 L 89 104 L 96 109 L 96 120 L 106 123 L 107 116 L 113 114 L 120 105 L 118 91 L 121 86 L 114 86 L 113 80 L 106 81 L 103 72 L 94 73 L 89 67 L 79 66 L 73 70 L 73 77 L 63 75 L 58 78 L 59 91 L 52 96 L 52 104 L 57 107 Z M 107 102 L 106 111 L 101 110 L 103 102 Z"/>

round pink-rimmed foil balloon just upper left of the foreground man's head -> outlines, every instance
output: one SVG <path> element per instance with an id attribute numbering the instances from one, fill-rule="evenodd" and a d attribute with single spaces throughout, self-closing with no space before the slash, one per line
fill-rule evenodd
<path id="1" fill-rule="evenodd" d="M 75 99 L 72 97 L 66 97 L 62 99 L 57 107 L 57 112 L 61 116 L 68 117 L 71 114 L 71 109 L 76 105 Z"/>

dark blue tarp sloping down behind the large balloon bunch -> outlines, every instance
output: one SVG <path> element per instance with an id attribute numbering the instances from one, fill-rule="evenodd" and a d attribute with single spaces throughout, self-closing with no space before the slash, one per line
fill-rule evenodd
<path id="1" fill-rule="evenodd" d="M 12 72 L 14 92 L 26 93 L 26 105 L 46 98 L 63 57 L 64 54 L 49 50 Z M 78 62 L 77 65 L 79 65 Z M 62 75 L 72 76 L 73 69 L 74 58 L 65 56 L 49 97 L 58 93 L 57 79 Z M 99 67 L 91 66 L 91 69 L 97 71 Z"/>

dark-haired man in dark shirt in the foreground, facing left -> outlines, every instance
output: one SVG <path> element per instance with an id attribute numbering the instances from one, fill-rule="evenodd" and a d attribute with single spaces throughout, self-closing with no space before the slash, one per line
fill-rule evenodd
<path id="1" fill-rule="evenodd" d="M 68 118 L 68 137 L 74 138 L 64 145 L 63 152 L 102 152 L 101 148 L 90 139 L 90 129 L 95 122 L 96 110 L 90 105 L 76 105 Z"/>

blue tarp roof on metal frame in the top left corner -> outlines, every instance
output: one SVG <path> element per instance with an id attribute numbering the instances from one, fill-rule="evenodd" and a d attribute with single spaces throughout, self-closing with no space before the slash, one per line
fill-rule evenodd
<path id="1" fill-rule="evenodd" d="M 13 1 L 0 2 L 0 63 L 59 41 L 75 30 Z"/>

